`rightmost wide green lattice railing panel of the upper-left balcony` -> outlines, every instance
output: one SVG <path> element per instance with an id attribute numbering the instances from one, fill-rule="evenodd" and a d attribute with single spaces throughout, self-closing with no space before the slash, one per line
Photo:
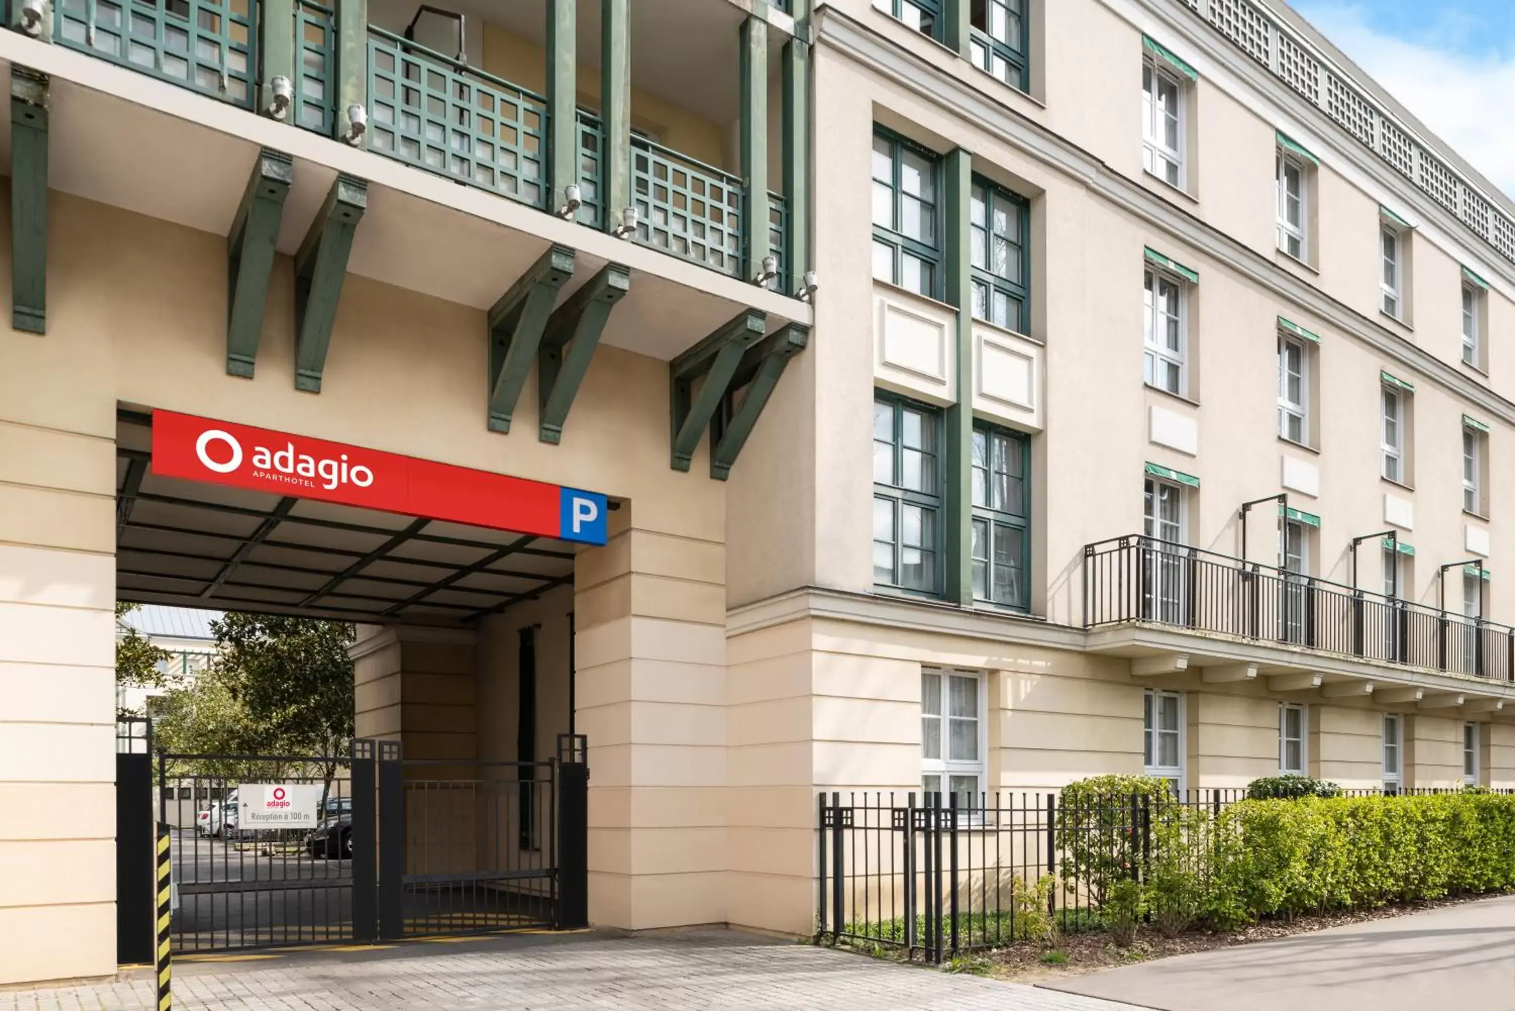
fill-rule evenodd
<path id="1" fill-rule="evenodd" d="M 636 241 L 738 274 L 742 267 L 742 180 L 645 138 L 632 138 Z"/>

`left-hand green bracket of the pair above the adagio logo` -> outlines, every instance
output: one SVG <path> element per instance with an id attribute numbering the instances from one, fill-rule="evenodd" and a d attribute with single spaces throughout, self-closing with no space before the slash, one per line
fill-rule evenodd
<path id="1" fill-rule="evenodd" d="M 258 153 L 247 191 L 226 236 L 226 371 L 253 377 L 258 338 L 264 332 L 268 279 L 274 270 L 274 244 L 283 202 L 294 182 L 294 159 L 267 147 Z"/>

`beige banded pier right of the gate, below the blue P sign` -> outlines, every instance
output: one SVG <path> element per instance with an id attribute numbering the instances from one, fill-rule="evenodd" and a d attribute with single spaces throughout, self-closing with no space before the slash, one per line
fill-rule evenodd
<path id="1" fill-rule="evenodd" d="M 589 738 L 589 920 L 724 923 L 726 550 L 636 529 L 579 555 L 577 729 Z"/>

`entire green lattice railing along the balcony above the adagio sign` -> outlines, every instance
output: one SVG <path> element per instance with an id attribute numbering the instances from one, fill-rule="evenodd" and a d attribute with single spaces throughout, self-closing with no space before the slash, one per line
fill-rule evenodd
<path id="1" fill-rule="evenodd" d="M 333 136 L 338 121 L 336 0 L 294 0 L 294 102 L 289 123 Z M 780 5 L 782 9 L 782 5 Z M 56 38 L 86 52 L 212 99 L 253 109 L 259 0 L 56 0 Z M 468 67 L 377 26 L 368 26 L 367 147 L 456 182 L 538 209 L 550 194 L 547 99 Z M 604 227 L 604 136 L 579 111 L 582 205 L 577 220 Z M 730 276 L 756 276 L 748 264 L 744 180 L 642 136 L 632 138 L 633 239 Z M 789 206 L 768 194 L 768 241 L 779 264 L 770 288 L 785 291 Z"/>

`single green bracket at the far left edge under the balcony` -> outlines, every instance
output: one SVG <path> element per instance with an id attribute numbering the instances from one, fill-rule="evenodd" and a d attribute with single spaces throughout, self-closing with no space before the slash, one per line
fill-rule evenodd
<path id="1" fill-rule="evenodd" d="M 11 67 L 11 327 L 47 333 L 45 74 Z"/>

